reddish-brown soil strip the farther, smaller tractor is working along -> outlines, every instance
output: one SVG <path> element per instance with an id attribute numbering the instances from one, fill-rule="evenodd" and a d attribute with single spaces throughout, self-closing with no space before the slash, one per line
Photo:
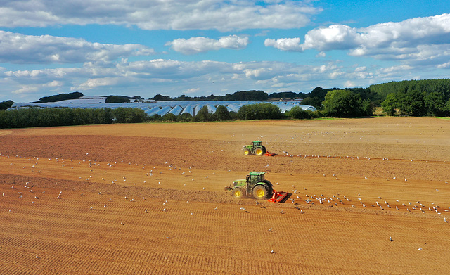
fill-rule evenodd
<path id="1" fill-rule="evenodd" d="M 279 144 L 272 143 L 267 146 L 270 151 L 278 155 L 244 158 L 241 151 L 236 150 L 236 148 L 242 148 L 242 142 L 237 141 L 132 136 L 8 135 L 3 136 L 0 143 L 2 148 L 0 153 L 4 155 L 67 160 L 91 159 L 134 165 L 151 163 L 164 166 L 169 163 L 184 169 L 192 167 L 214 171 L 264 170 L 274 173 L 345 174 L 358 177 L 398 177 L 435 181 L 449 181 L 450 174 L 450 160 L 446 159 L 448 155 L 445 154 L 448 148 L 435 145 L 428 145 L 418 150 L 417 145 L 335 144 L 332 148 L 333 144 L 314 143 L 314 149 L 311 150 L 311 148 L 304 148 L 301 144 L 290 144 L 289 155 L 303 157 L 287 158 L 282 153 L 285 149 Z M 36 144 L 39 144 L 39 147 L 35 146 Z M 130 144 L 133 146 L 129 146 Z M 427 151 L 425 148 L 435 153 L 420 153 L 420 151 Z M 349 155 L 349 151 L 364 152 L 364 155 L 359 158 L 357 154 Z M 411 155 L 397 153 L 404 151 L 411 151 Z M 327 157 L 304 158 L 305 155 L 326 155 Z M 401 158 L 402 155 L 405 158 Z M 368 160 L 368 158 L 371 159 Z"/>

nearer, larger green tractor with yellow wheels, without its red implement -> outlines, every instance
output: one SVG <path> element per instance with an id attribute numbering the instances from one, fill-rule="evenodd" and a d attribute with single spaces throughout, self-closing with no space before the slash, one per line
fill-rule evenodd
<path id="1" fill-rule="evenodd" d="M 235 198 L 248 196 L 267 200 L 272 197 L 274 188 L 270 181 L 264 179 L 264 174 L 266 172 L 250 172 L 246 179 L 237 179 L 231 186 L 226 186 L 225 191 L 231 191 Z"/>

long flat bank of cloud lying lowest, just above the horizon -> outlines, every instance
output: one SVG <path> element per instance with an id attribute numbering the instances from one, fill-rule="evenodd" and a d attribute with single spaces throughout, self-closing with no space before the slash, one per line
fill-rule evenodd
<path id="1" fill-rule="evenodd" d="M 388 68 L 351 66 L 338 61 L 323 65 L 300 65 L 278 61 L 227 63 L 212 60 L 180 61 L 169 59 L 120 60 L 96 67 L 41 70 L 8 70 L 0 72 L 0 84 L 6 92 L 1 96 L 18 101 L 35 101 L 42 96 L 85 91 L 86 95 L 120 94 L 145 98 L 155 94 L 179 96 L 224 94 L 241 91 L 242 87 L 266 92 L 292 90 L 311 91 L 311 87 L 361 86 L 414 77 L 413 67 L 395 65 Z M 347 82 L 347 84 L 346 84 Z"/>

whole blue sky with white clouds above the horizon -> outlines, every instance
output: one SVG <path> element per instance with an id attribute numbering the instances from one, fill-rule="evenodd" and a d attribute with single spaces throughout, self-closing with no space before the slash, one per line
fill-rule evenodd
<path id="1" fill-rule="evenodd" d="M 0 0 L 0 101 L 449 78 L 449 0 Z"/>

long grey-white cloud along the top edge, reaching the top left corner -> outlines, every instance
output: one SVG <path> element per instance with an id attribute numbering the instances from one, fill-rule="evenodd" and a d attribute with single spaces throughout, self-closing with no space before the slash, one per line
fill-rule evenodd
<path id="1" fill-rule="evenodd" d="M 2 1 L 0 26 L 136 25 L 143 30 L 297 28 L 321 12 L 311 1 L 15 0 Z"/>

